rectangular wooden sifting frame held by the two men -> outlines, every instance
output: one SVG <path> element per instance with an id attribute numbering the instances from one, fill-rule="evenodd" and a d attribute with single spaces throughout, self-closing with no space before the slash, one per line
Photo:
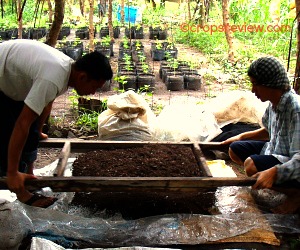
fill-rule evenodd
<path id="1" fill-rule="evenodd" d="M 97 149 L 128 148 L 149 144 L 172 144 L 191 147 L 203 177 L 65 177 L 64 170 L 69 154 Z M 50 187 L 54 192 L 143 192 L 176 191 L 199 192 L 221 186 L 251 186 L 255 179 L 247 177 L 212 177 L 202 150 L 220 148 L 219 143 L 199 142 L 140 142 L 140 141 L 83 141 L 73 139 L 48 139 L 40 142 L 43 148 L 61 148 L 54 176 L 39 177 L 25 182 L 28 190 Z M 6 178 L 0 178 L 0 189 L 8 189 Z"/>

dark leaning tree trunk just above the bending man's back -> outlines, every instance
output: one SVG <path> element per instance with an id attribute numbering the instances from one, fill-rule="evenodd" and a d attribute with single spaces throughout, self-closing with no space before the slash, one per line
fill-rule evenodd
<path id="1" fill-rule="evenodd" d="M 65 0 L 55 0 L 55 14 L 46 44 L 55 47 L 61 26 L 64 21 Z"/>

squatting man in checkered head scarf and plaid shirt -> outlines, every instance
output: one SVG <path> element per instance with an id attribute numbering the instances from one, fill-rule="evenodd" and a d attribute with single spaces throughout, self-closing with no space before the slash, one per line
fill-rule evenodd
<path id="1" fill-rule="evenodd" d="M 263 127 L 231 137 L 229 156 L 257 178 L 254 189 L 272 188 L 287 195 L 274 209 L 294 213 L 300 208 L 300 99 L 290 87 L 287 73 L 274 57 L 262 57 L 249 67 L 252 92 L 269 101 Z"/>

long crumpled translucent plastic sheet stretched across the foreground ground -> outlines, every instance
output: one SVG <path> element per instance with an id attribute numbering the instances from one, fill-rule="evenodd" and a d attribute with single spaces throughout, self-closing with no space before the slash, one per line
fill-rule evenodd
<path id="1" fill-rule="evenodd" d="M 230 195 L 234 197 L 232 192 Z M 300 232 L 298 215 L 241 212 L 246 206 L 239 208 L 239 213 L 236 210 L 236 213 L 217 215 L 172 214 L 129 221 L 82 217 L 80 209 L 78 214 L 70 215 L 24 206 L 19 202 L 9 203 L 9 206 L 12 217 L 18 211 L 23 211 L 24 218 L 28 218 L 29 224 L 32 224 L 30 235 L 51 240 L 66 248 L 76 248 L 82 244 L 107 247 L 202 244 L 240 235 L 256 228 L 270 230 L 265 223 L 266 219 L 270 226 L 274 225 L 274 231 Z M 235 207 L 238 208 L 237 205 Z M 20 217 L 16 219 L 20 220 Z M 24 225 L 26 226 L 28 227 L 28 223 Z M 2 236 L 1 238 L 3 239 Z"/>

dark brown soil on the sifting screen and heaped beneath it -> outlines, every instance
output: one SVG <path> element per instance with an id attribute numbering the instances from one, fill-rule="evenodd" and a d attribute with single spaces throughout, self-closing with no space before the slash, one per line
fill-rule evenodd
<path id="1" fill-rule="evenodd" d="M 98 177 L 201 177 L 192 149 L 184 145 L 144 145 L 97 150 L 81 154 L 73 164 L 73 176 Z M 125 219 L 170 214 L 210 214 L 214 191 L 203 192 L 90 192 L 76 193 L 75 206 Z"/>

